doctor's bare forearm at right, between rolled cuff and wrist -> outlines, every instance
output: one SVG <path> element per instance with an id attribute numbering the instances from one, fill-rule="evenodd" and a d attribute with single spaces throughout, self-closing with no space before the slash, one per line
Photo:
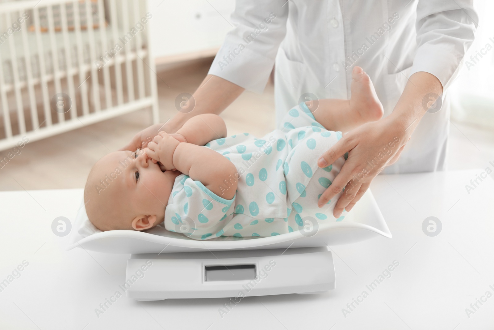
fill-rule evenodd
<path id="1" fill-rule="evenodd" d="M 441 82 L 428 72 L 414 73 L 403 91 L 393 112 L 389 115 L 410 137 L 422 116 L 443 93 Z"/>

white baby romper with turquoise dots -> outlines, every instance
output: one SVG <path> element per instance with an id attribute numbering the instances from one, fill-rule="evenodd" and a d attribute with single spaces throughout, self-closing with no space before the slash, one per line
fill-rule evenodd
<path id="1" fill-rule="evenodd" d="M 326 130 L 304 103 L 291 109 L 282 123 L 281 129 L 262 139 L 243 133 L 207 143 L 204 147 L 237 167 L 237 176 L 225 180 L 221 191 L 232 189 L 231 182 L 237 180 L 237 192 L 228 200 L 179 175 L 166 206 L 165 229 L 194 239 L 222 239 L 302 230 L 305 219 L 341 221 L 344 216 L 332 216 L 339 195 L 328 206 L 317 206 L 345 159 L 340 157 L 326 168 L 319 168 L 317 160 L 341 138 L 341 132 Z"/>

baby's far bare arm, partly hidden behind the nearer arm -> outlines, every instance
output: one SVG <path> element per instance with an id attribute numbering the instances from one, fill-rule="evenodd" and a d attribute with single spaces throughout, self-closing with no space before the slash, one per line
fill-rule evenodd
<path id="1" fill-rule="evenodd" d="M 181 135 L 183 141 L 175 134 Z M 205 145 L 211 140 L 226 137 L 226 125 L 220 116 L 205 113 L 187 120 L 175 134 L 171 136 L 181 142 Z"/>

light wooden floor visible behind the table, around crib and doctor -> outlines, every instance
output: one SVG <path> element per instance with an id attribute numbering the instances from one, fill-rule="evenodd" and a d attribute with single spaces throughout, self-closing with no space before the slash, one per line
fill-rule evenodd
<path id="1" fill-rule="evenodd" d="M 192 62 L 179 70 L 160 71 L 160 119 L 176 113 L 175 97 L 194 93 L 207 74 L 211 59 Z M 263 94 L 244 92 L 223 113 L 228 134 L 262 136 L 275 128 L 273 86 Z M 151 111 L 141 110 L 26 144 L 21 153 L 0 168 L 0 190 L 83 188 L 92 165 L 126 144 L 152 124 Z M 0 151 L 3 158 L 9 150 Z M 449 169 L 483 168 L 494 163 L 494 132 L 454 123 L 448 154 Z M 467 183 L 465 183 L 467 184 Z"/>

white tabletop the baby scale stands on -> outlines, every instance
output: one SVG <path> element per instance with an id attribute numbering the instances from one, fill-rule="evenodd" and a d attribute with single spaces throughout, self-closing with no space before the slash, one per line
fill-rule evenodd
<path id="1" fill-rule="evenodd" d="M 371 189 L 392 239 L 331 247 L 332 291 L 245 297 L 223 317 L 226 298 L 122 296 L 98 318 L 99 304 L 122 291 L 128 255 L 65 251 L 67 237 L 52 233 L 56 217 L 74 219 L 82 189 L 0 192 L 0 281 L 29 263 L 0 292 L 0 329 L 494 329 L 494 296 L 482 298 L 494 295 L 494 182 L 465 189 L 482 172 L 378 176 Z M 429 216 L 442 222 L 438 236 L 422 232 Z M 391 277 L 371 291 L 393 261 Z M 468 317 L 477 298 L 486 302 Z"/>

